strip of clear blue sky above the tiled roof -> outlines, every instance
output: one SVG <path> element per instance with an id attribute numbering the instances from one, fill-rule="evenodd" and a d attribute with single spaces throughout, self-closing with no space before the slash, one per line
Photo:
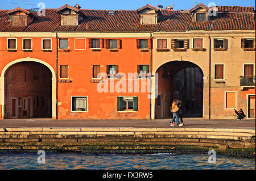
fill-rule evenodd
<path id="1" fill-rule="evenodd" d="M 0 0 L 0 9 L 10 9 L 9 0 Z M 11 9 L 17 6 L 23 9 L 38 8 L 38 3 L 43 2 L 46 5 L 46 9 L 59 8 L 65 4 L 75 6 L 78 3 L 82 9 L 94 9 L 94 10 L 136 10 L 139 7 L 149 5 L 157 7 L 158 5 L 163 5 L 163 8 L 167 6 L 172 6 L 174 4 L 174 10 L 188 10 L 191 7 L 197 5 L 197 3 L 203 3 L 208 6 L 209 3 L 213 2 L 219 6 L 254 6 L 254 0 L 11 0 Z M 14 3 L 18 3 L 14 4 Z M 32 4 L 32 5 L 28 5 Z"/>

